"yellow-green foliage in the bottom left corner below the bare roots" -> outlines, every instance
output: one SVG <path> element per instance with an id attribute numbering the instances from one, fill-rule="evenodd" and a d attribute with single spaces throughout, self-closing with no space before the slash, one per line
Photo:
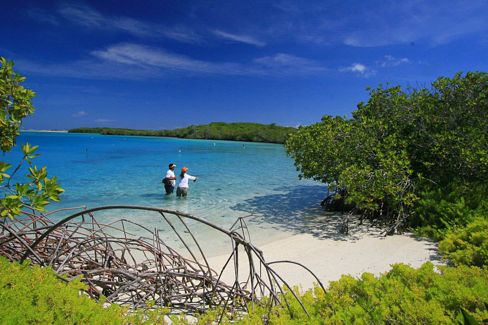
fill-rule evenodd
<path id="1" fill-rule="evenodd" d="M 164 324 L 167 310 L 125 316 L 118 305 L 103 308 L 82 294 L 79 279 L 61 282 L 51 268 L 9 263 L 0 257 L 1 324 Z M 81 293 L 81 294 L 80 294 Z"/>

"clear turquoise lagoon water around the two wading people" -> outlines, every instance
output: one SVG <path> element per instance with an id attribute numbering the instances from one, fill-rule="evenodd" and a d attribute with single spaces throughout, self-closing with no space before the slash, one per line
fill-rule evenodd
<path id="1" fill-rule="evenodd" d="M 227 229 L 237 217 L 254 213 L 260 216 L 247 224 L 258 234 L 258 242 L 283 231 L 302 232 L 307 222 L 325 214 L 319 205 L 325 186 L 299 180 L 283 145 L 32 131 L 21 132 L 17 142 L 39 145 L 41 156 L 33 163 L 47 166 L 49 175 L 58 176 L 66 190 L 61 202 L 47 206 L 50 211 L 113 204 L 154 206 L 191 213 Z M 17 146 L 3 158 L 14 164 L 13 170 L 20 157 Z M 169 163 L 177 165 L 175 174 L 188 167 L 190 175 L 213 176 L 190 182 L 188 199 L 177 199 L 176 189 L 175 194 L 164 195 L 161 183 Z M 28 164 L 22 166 L 19 175 L 27 173 Z M 52 219 L 71 213 L 57 212 Z M 159 214 L 133 210 L 99 211 L 96 217 L 102 223 L 128 218 L 149 229 L 163 225 Z"/>

